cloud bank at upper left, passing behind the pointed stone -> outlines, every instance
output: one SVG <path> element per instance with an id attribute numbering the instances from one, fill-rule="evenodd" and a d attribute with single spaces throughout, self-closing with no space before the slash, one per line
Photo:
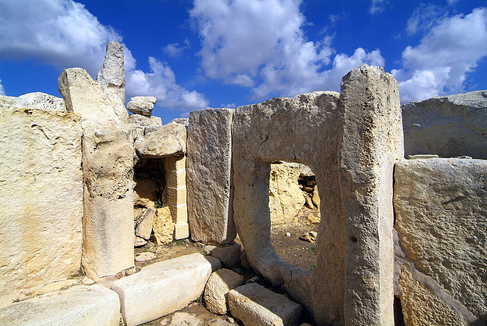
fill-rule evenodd
<path id="1" fill-rule="evenodd" d="M 122 42 L 122 36 L 73 0 L 0 0 L 0 59 L 81 67 L 95 77 L 106 44 L 113 40 Z M 171 109 L 206 108 L 201 93 L 176 84 L 167 64 L 150 58 L 151 72 L 135 70 L 135 59 L 125 45 L 124 58 L 129 95 L 156 96 L 159 106 Z"/>

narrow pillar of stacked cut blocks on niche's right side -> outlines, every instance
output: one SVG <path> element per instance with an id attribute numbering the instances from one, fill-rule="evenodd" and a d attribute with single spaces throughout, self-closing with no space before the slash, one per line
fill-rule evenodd
<path id="1" fill-rule="evenodd" d="M 164 205 L 169 207 L 174 226 L 174 239 L 189 236 L 186 205 L 186 157 L 167 157 L 164 159 L 166 189 Z"/>

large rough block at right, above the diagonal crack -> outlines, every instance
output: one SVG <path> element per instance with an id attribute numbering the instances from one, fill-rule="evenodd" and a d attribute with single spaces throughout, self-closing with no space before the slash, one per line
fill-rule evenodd
<path id="1" fill-rule="evenodd" d="M 404 160 L 394 176 L 404 252 L 439 284 L 439 293 L 487 321 L 487 161 Z"/>

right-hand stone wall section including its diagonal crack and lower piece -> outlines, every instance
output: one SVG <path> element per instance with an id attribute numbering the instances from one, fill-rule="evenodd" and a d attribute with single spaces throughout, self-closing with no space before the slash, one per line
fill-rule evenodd
<path id="1" fill-rule="evenodd" d="M 396 295 L 407 325 L 483 325 L 487 161 L 404 160 L 394 176 Z"/>

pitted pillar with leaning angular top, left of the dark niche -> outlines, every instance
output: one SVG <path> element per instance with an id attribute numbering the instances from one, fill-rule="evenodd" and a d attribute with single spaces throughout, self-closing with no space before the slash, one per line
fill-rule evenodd
<path id="1" fill-rule="evenodd" d="M 83 271 L 94 280 L 134 267 L 133 140 L 110 97 L 79 68 L 59 76 L 66 107 L 83 127 Z"/>

